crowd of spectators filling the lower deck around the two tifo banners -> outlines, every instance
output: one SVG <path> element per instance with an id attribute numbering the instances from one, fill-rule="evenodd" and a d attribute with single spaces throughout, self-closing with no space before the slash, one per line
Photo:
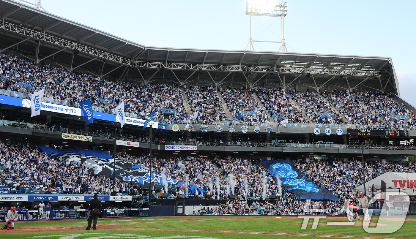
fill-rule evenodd
<path id="1" fill-rule="evenodd" d="M 118 156 L 149 169 L 150 161 L 146 156 L 128 153 Z M 291 158 L 286 159 L 291 160 Z M 295 168 L 304 172 L 312 182 L 329 190 L 338 198 L 342 199 L 346 193 L 358 196 L 354 187 L 363 179 L 360 160 L 305 162 L 297 159 L 293 162 Z M 414 170 L 411 167 L 411 163 L 366 162 L 365 177 L 366 180 L 371 180 L 384 172 L 410 172 Z M 267 173 L 258 159 L 216 157 L 211 160 L 208 157 L 160 157 L 153 161 L 152 171 L 159 174 L 164 172 L 168 177 L 194 184 L 199 189 L 194 197 L 211 196 L 223 199 L 233 194 L 240 199 L 200 212 L 204 214 L 302 214 L 310 213 L 305 208 L 322 209 L 324 203 L 310 204 L 298 199 L 290 191 L 283 189 L 280 192 L 276 180 Z M 110 178 L 94 175 L 93 172 L 66 161 L 55 160 L 37 148 L 30 148 L 20 143 L 9 144 L 4 141 L 0 143 L 0 172 L 3 179 L 1 186 L 10 186 L 12 192 L 19 191 L 20 187 L 74 194 L 108 194 L 113 191 Z M 126 195 L 146 193 L 141 187 L 121 181 L 116 181 L 115 188 L 116 192 Z M 179 191 L 180 189 L 176 189 L 175 192 L 169 193 L 176 197 L 181 193 Z M 276 195 L 277 201 L 258 201 L 267 199 L 269 195 Z M 245 201 L 248 199 L 258 202 L 250 206 Z M 337 211 L 339 207 L 339 202 L 327 203 L 327 209 L 332 212 Z"/>

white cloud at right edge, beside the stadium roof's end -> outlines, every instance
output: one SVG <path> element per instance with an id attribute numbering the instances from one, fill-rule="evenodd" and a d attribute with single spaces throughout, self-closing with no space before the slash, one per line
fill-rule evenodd
<path id="1" fill-rule="evenodd" d="M 396 71 L 400 86 L 400 98 L 416 107 L 416 73 Z"/>

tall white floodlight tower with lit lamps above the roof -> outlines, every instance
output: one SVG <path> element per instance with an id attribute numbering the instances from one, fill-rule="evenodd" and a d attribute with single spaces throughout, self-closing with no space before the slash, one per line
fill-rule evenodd
<path id="1" fill-rule="evenodd" d="M 255 42 L 272 42 L 280 43 L 279 52 L 287 52 L 286 45 L 289 44 L 285 42 L 285 16 L 287 14 L 287 2 L 275 2 L 275 1 L 264 1 L 264 0 L 248 0 L 246 2 L 245 15 L 248 15 L 248 44 L 245 47 L 247 49 L 250 46 L 251 49 L 254 49 L 253 44 L 262 50 Z M 266 16 L 266 17 L 281 17 L 282 18 L 282 41 L 273 42 L 273 41 L 255 41 L 251 38 L 251 16 Z M 290 47 L 294 52 L 296 52 L 292 47 Z"/>

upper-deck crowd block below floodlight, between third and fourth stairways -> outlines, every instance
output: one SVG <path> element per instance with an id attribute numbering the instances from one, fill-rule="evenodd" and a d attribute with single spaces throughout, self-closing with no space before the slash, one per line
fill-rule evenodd
<path id="1" fill-rule="evenodd" d="M 310 123 L 302 110 L 297 109 L 291 102 L 284 89 L 280 87 L 256 89 L 256 94 L 266 110 L 275 121 L 287 119 L 289 123 Z"/>

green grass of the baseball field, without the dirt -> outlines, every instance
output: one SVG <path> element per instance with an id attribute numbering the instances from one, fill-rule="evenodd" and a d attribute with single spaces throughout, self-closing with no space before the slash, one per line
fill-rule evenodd
<path id="1" fill-rule="evenodd" d="M 415 219 L 416 216 L 408 216 L 408 219 Z M 376 222 L 378 217 L 372 217 L 371 222 Z M 195 221 L 185 221 L 183 220 L 195 220 Z M 309 223 L 312 223 L 312 219 Z M 320 219 L 319 223 L 326 222 L 346 222 L 347 219 L 344 217 L 334 217 L 329 219 Z M 358 220 L 357 220 L 358 221 Z M 136 223 L 136 222 L 146 222 L 146 223 Z M 399 231 L 391 234 L 369 234 L 364 231 L 362 226 L 327 226 L 327 225 L 318 225 L 316 230 L 311 230 L 311 225 L 307 226 L 306 230 L 301 230 L 301 224 L 303 219 L 297 219 L 296 217 L 280 217 L 276 216 L 262 217 L 262 218 L 253 218 L 253 217 L 223 217 L 223 216 L 186 216 L 186 217 L 159 217 L 159 218 L 134 218 L 134 219 L 123 219 L 123 218 L 114 218 L 114 219 L 100 219 L 98 221 L 98 226 L 96 231 L 85 231 L 84 225 L 87 225 L 86 220 L 79 221 L 41 221 L 41 222 L 27 222 L 27 223 L 16 223 L 16 227 L 30 227 L 36 226 L 37 228 L 42 227 L 62 227 L 62 231 L 65 230 L 65 226 L 80 226 L 80 229 L 83 231 L 68 231 L 68 232 L 40 232 L 40 233 L 19 233 L 12 234 L 13 238 L 23 239 L 23 238 L 41 238 L 42 236 L 47 239 L 59 239 L 62 235 L 65 234 L 78 234 L 85 232 L 95 232 L 95 233 L 105 233 L 105 234 L 134 234 L 126 235 L 125 237 L 120 238 L 145 238 L 140 236 L 149 236 L 149 237 L 167 237 L 167 236 L 193 236 L 194 237 L 212 237 L 212 238 L 301 238 L 300 236 L 289 236 L 289 235 L 267 235 L 266 234 L 241 234 L 241 233 L 222 233 L 222 232 L 178 232 L 178 231 L 154 231 L 155 229 L 183 229 L 183 230 L 217 230 L 217 231 L 251 231 L 251 232 L 288 232 L 288 233 L 308 233 L 308 234 L 339 234 L 339 235 L 355 235 L 355 236 L 366 236 L 366 237 L 404 237 L 404 238 L 414 238 L 416 228 L 416 222 L 406 221 L 404 222 L 403 227 Z M 136 224 L 135 224 L 136 223 Z M 381 222 L 383 224 L 391 224 L 389 221 Z M 123 230 L 102 230 L 106 229 L 105 224 L 116 224 Z M 29 228 L 27 228 L 29 229 Z M 112 228 L 110 228 L 112 229 Z M 135 229 L 153 229 L 152 231 L 136 231 Z M 30 229 L 29 231 L 30 232 Z M 80 235 L 79 237 L 65 237 L 62 239 L 101 239 L 105 238 L 105 234 L 99 235 Z M 2 234 L 4 235 L 4 234 Z M 57 235 L 50 237 L 52 235 Z M 108 235 L 107 235 L 108 236 Z M 107 237 L 108 238 L 108 237 Z M 116 238 L 116 237 L 111 237 Z M 175 237 L 180 238 L 180 237 Z M 183 238 L 183 237 L 182 237 Z M 315 237 L 308 237 L 315 238 Z M 324 237 L 319 237 L 324 238 Z M 333 238 L 333 237 L 332 237 Z M 162 238 L 160 238 L 162 239 Z M 172 238 L 173 239 L 173 238 Z"/>

